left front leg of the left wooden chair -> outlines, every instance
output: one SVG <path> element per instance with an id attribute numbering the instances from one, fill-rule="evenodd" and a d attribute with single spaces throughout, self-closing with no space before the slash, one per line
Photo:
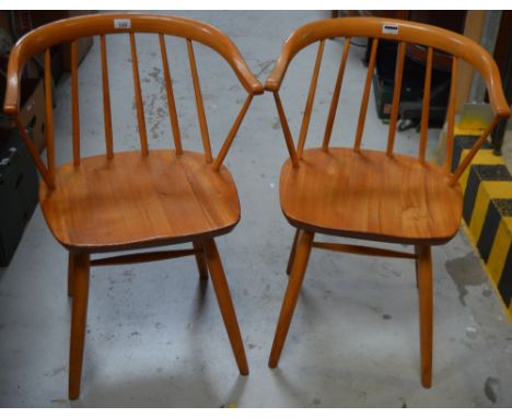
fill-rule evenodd
<path id="1" fill-rule="evenodd" d="M 89 254 L 72 255 L 73 311 L 71 315 L 71 340 L 69 351 L 69 398 L 80 396 L 82 375 L 83 345 L 88 316 L 89 295 Z"/>

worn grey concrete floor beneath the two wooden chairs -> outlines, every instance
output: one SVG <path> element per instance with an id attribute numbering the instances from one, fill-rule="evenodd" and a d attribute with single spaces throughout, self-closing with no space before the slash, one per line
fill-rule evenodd
<path id="1" fill-rule="evenodd" d="M 261 81 L 292 30 L 328 16 L 328 12 L 176 14 L 224 31 Z M 336 40 L 326 46 L 310 147 L 323 135 L 341 45 Z M 108 38 L 118 150 L 138 147 L 128 46 L 127 36 Z M 158 42 L 143 35 L 138 47 L 151 146 L 164 148 L 171 133 Z M 170 42 L 168 48 L 184 144 L 199 149 L 185 43 Z M 347 139 L 356 127 L 365 74 L 363 51 L 351 48 L 338 108 L 335 129 Z M 283 85 L 293 132 L 299 130 L 307 94 L 304 80 L 310 80 L 315 54 L 314 48 L 301 53 Z M 198 46 L 196 55 L 210 133 L 219 147 L 244 92 L 214 54 Z M 98 62 L 96 40 L 80 68 L 80 83 L 89 85 L 81 91 L 85 154 L 104 152 Z M 71 158 L 69 84 L 65 77 L 57 89 L 60 162 Z M 372 96 L 364 143 L 384 148 L 386 128 L 376 117 Z M 431 150 L 438 137 L 432 129 Z M 341 143 L 340 138 L 334 137 L 333 143 Z M 396 146 L 414 153 L 418 135 L 399 133 Z M 92 270 L 81 397 L 68 402 L 67 253 L 37 208 L 11 265 L 0 269 L 0 406 L 512 406 L 512 326 L 463 231 L 433 252 L 432 388 L 420 385 L 417 293 L 414 265 L 407 260 L 314 251 L 280 365 L 267 368 L 293 236 L 278 199 L 286 156 L 272 97 L 256 97 L 226 160 L 237 183 L 242 221 L 218 240 L 249 376 L 238 375 L 211 286 L 201 287 L 194 259 L 102 267 Z"/>

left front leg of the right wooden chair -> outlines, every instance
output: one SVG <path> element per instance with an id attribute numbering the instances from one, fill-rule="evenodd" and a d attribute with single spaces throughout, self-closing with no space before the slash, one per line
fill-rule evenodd
<path id="1" fill-rule="evenodd" d="M 290 328 L 293 311 L 295 310 L 296 299 L 301 290 L 302 280 L 304 279 L 305 269 L 310 259 L 311 247 L 313 244 L 313 232 L 300 231 L 296 242 L 296 254 L 294 256 L 293 266 L 291 269 L 290 280 L 288 281 L 287 291 L 282 301 L 281 313 L 274 337 L 272 349 L 268 365 L 277 367 L 281 350 L 287 338 L 288 329 Z"/>

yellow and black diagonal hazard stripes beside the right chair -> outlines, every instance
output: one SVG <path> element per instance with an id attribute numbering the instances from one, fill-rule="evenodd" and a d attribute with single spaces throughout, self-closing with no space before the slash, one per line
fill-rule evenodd
<path id="1" fill-rule="evenodd" d="M 452 169 L 478 139 L 456 136 Z M 463 219 L 486 269 L 512 318 L 512 175 L 486 142 L 461 176 Z"/>

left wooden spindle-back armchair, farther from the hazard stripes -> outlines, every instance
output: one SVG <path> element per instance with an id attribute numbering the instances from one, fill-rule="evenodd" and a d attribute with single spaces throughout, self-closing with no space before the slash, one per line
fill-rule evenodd
<path id="1" fill-rule="evenodd" d="M 175 150 L 149 150 L 136 33 L 155 34 L 155 42 L 160 43 Z M 129 37 L 140 152 L 114 152 L 105 43 L 106 36 L 110 34 L 125 34 L 123 36 Z M 101 43 L 106 154 L 81 158 L 77 45 L 81 37 L 93 35 L 98 35 Z M 182 147 L 165 35 L 186 39 L 203 153 L 186 151 Z M 72 61 L 73 156 L 71 162 L 56 166 L 49 48 L 67 42 L 71 43 Z M 222 56 L 247 91 L 247 98 L 214 159 L 193 48 L 196 42 Z M 27 59 L 38 53 L 44 53 L 45 57 L 47 165 L 18 119 L 20 76 Z M 75 399 L 80 393 L 91 266 L 146 263 L 194 255 L 200 277 L 207 278 L 208 270 L 210 271 L 240 373 L 248 373 L 244 346 L 214 237 L 230 232 L 240 220 L 236 187 L 223 161 L 253 96 L 260 93 L 263 85 L 252 74 L 231 39 L 216 27 L 190 19 L 146 14 L 81 16 L 42 26 L 20 39 L 13 48 L 3 108 L 15 118 L 43 176 L 39 202 L 48 227 L 57 241 L 69 251 L 68 294 L 73 298 L 69 365 L 71 399 Z M 193 246 L 189 249 L 91 259 L 91 255 L 95 253 L 178 243 L 191 243 Z"/>

